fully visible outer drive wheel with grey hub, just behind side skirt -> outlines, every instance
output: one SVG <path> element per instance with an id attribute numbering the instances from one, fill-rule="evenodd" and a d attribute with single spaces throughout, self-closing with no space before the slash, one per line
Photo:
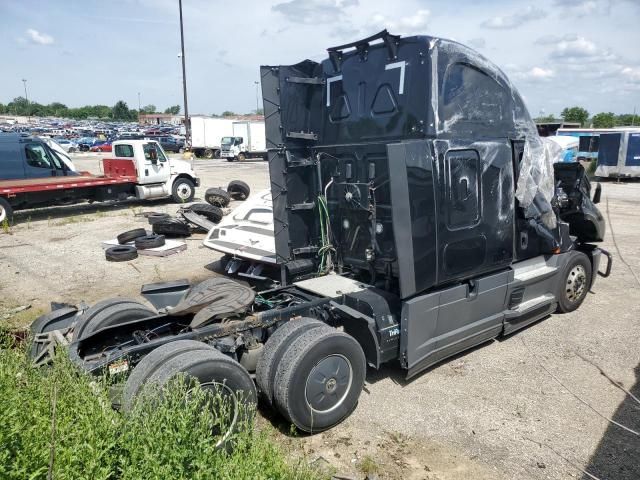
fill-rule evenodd
<path id="1" fill-rule="evenodd" d="M 321 432 L 355 409 L 365 376 L 364 352 L 353 337 L 337 330 L 312 329 L 289 344 L 278 365 L 275 404 L 300 430 Z M 308 384 L 311 377 L 317 381 Z"/>

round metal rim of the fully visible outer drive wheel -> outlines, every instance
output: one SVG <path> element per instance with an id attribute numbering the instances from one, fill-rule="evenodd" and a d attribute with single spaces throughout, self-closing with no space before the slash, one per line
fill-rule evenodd
<path id="1" fill-rule="evenodd" d="M 328 355 L 309 373 L 305 399 L 310 410 L 327 413 L 340 407 L 353 383 L 351 362 L 343 355 Z"/>

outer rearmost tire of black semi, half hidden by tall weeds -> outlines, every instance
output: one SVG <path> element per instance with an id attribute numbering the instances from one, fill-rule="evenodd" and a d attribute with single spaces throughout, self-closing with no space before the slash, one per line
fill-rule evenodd
<path id="1" fill-rule="evenodd" d="M 200 386 L 215 388 L 216 393 L 230 400 L 233 411 L 230 426 L 221 432 L 216 443 L 216 448 L 229 449 L 230 436 L 250 419 L 246 415 L 252 412 L 252 407 L 257 401 L 256 386 L 249 372 L 238 362 L 217 350 L 189 350 L 162 362 L 159 368 L 148 377 L 146 384 L 152 388 L 162 389 L 180 374 L 186 374 Z"/>

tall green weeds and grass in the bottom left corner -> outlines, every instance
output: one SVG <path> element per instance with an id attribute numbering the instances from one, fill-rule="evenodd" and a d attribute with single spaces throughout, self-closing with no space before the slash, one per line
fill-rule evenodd
<path id="1" fill-rule="evenodd" d="M 0 478 L 45 479 L 50 469 L 58 480 L 321 478 L 249 425 L 231 453 L 216 449 L 220 416 L 186 395 L 185 382 L 130 414 L 111 408 L 108 387 L 65 355 L 34 368 L 24 345 L 0 332 Z"/>

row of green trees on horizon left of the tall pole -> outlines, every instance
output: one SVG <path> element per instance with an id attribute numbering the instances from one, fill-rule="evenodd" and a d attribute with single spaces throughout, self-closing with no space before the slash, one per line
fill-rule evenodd
<path id="1" fill-rule="evenodd" d="M 34 117 L 62 117 L 84 120 L 86 118 L 99 118 L 103 120 L 131 121 L 138 120 L 138 113 L 159 113 L 155 105 L 146 105 L 140 109 L 131 109 L 123 100 L 118 100 L 112 107 L 108 105 L 85 105 L 84 107 L 67 107 L 64 103 L 53 102 L 43 105 L 38 102 L 30 102 L 24 97 L 16 97 L 7 104 L 0 103 L 0 115 L 23 115 Z M 180 105 L 172 105 L 164 110 L 164 113 L 177 115 L 180 113 Z"/>

